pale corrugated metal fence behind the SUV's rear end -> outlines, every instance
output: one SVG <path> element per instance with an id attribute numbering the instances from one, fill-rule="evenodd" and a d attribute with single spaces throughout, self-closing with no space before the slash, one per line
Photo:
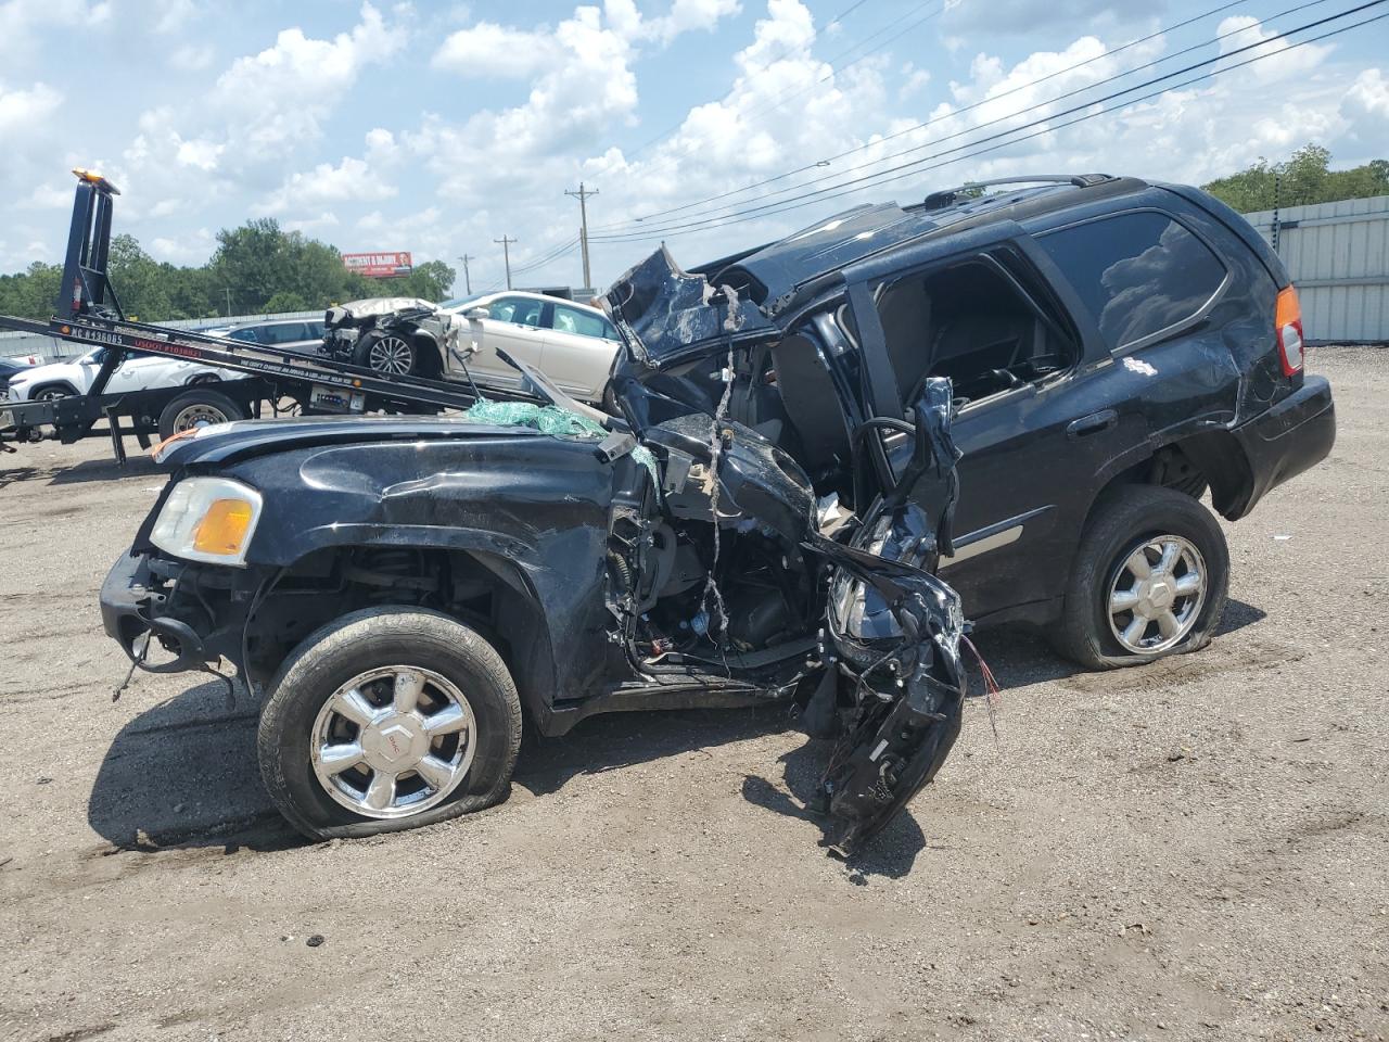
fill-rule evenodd
<path id="1" fill-rule="evenodd" d="M 1274 242 L 1272 210 L 1245 217 Z M 1276 246 L 1308 340 L 1389 342 L 1389 196 L 1279 210 Z"/>

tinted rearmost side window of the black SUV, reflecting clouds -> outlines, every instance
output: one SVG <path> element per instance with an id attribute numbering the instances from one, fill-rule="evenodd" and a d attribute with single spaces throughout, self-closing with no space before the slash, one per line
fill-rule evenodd
<path id="1" fill-rule="evenodd" d="M 1110 350 L 1193 318 L 1225 265 L 1165 214 L 1101 217 L 1038 236 L 1095 315 Z"/>

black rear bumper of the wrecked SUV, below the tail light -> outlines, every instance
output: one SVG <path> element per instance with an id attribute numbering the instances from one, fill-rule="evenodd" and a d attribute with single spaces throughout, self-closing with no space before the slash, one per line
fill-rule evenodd
<path id="1" fill-rule="evenodd" d="M 1268 411 L 1236 427 L 1249 460 L 1251 488 L 1242 514 L 1264 495 L 1331 454 L 1336 443 L 1336 406 L 1325 377 L 1306 377 L 1301 388 Z"/>

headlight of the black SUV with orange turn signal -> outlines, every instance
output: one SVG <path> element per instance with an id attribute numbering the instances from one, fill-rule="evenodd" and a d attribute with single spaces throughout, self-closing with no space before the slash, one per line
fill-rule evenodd
<path id="1" fill-rule="evenodd" d="M 150 542 L 175 557 L 246 567 L 261 495 L 229 478 L 185 478 L 164 500 Z"/>

